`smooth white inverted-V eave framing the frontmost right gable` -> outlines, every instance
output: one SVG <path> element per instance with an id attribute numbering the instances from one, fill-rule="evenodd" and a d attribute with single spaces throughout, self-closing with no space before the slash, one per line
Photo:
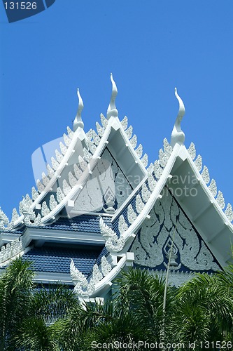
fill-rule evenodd
<path id="1" fill-rule="evenodd" d="M 162 175 L 160 176 L 160 179 L 157 181 L 157 184 L 155 185 L 155 189 L 150 194 L 148 201 L 146 201 L 146 204 L 143 206 L 141 213 L 137 216 L 136 220 L 134 220 L 134 222 L 127 228 L 127 230 L 125 230 L 125 232 L 122 234 L 122 237 L 125 239 L 125 242 L 126 242 L 125 249 L 127 250 L 127 248 L 129 247 L 129 244 L 134 239 L 134 233 L 136 233 L 137 230 L 139 230 L 139 227 L 141 227 L 143 221 L 146 219 L 146 217 L 150 213 L 150 210 L 153 208 L 155 201 L 157 201 L 157 199 L 162 197 L 161 194 L 164 186 L 167 184 L 170 187 L 169 182 L 170 182 L 170 179 L 172 178 L 172 174 L 174 173 L 174 165 L 176 164 L 175 168 L 179 170 L 180 166 L 183 164 L 184 161 L 188 161 L 188 164 L 190 166 L 190 171 L 192 171 L 191 173 L 193 173 L 193 175 L 195 176 L 197 180 L 197 184 L 203 190 L 206 200 L 208 200 L 207 207 L 203 209 L 201 215 L 204 214 L 204 211 L 209 210 L 209 208 L 213 208 L 214 211 L 212 213 L 212 217 L 214 218 L 211 218 L 211 220 L 212 222 L 216 220 L 216 223 L 218 223 L 218 227 L 220 227 L 220 229 L 218 229 L 216 234 L 213 233 L 212 236 L 210 234 L 206 234 L 206 227 L 210 225 L 209 219 L 206 220 L 205 216 L 202 216 L 202 220 L 200 220 L 201 216 L 195 216 L 196 215 L 195 211 L 190 212 L 189 207 L 184 208 L 185 212 L 188 213 L 190 220 L 192 220 L 192 223 L 194 223 L 198 232 L 202 235 L 202 239 L 204 239 L 204 241 L 206 242 L 206 245 L 209 246 L 209 249 L 212 251 L 213 255 L 216 256 L 220 265 L 222 265 L 222 267 L 225 267 L 225 265 L 227 265 L 227 260 L 230 259 L 230 239 L 232 238 L 232 234 L 233 234 L 233 225 L 230 222 L 230 220 L 227 218 L 225 213 L 223 212 L 220 205 L 218 204 L 217 199 L 213 197 L 213 194 L 211 194 L 209 187 L 206 185 L 206 182 L 203 179 L 204 177 L 203 174 L 201 174 L 198 171 L 197 166 L 195 166 L 195 162 L 192 160 L 192 157 L 190 157 L 190 154 L 186 149 L 186 147 L 184 145 L 179 145 L 178 143 L 176 143 L 176 145 L 174 146 L 174 150 L 167 161 L 167 165 L 164 167 L 164 170 L 162 171 Z M 176 172 L 176 176 L 178 176 L 177 172 Z M 187 172 L 185 174 L 187 174 Z M 192 199 L 190 199 L 190 201 L 192 201 Z M 198 192 L 196 201 L 197 203 L 200 203 L 200 204 L 202 203 L 203 201 L 202 192 Z M 181 201 L 179 202 L 181 203 Z M 181 206 L 183 206 L 183 204 L 181 204 Z M 220 239 L 218 235 L 220 235 L 222 239 Z M 216 241 L 217 238 L 225 242 L 225 247 L 222 248 L 222 250 L 220 250 L 219 242 L 218 244 L 214 242 Z M 229 250 L 229 253 L 226 252 L 227 249 Z M 225 253 L 226 255 L 224 255 Z"/>

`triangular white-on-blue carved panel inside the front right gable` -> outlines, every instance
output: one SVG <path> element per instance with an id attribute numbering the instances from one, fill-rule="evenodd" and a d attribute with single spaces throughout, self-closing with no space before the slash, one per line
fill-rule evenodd
<path id="1" fill-rule="evenodd" d="M 150 219 L 144 220 L 136 235 L 131 249 L 135 264 L 165 270 L 173 237 L 171 270 L 220 270 L 206 244 L 169 191 L 156 201 L 150 211 Z"/>

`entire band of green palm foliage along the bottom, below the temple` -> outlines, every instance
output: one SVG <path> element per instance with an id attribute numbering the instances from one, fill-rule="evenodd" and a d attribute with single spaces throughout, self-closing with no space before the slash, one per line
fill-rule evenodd
<path id="1" fill-rule="evenodd" d="M 33 277 L 22 259 L 1 276 L 0 350 L 132 350 L 139 341 L 139 350 L 156 343 L 163 350 L 233 350 L 232 266 L 197 274 L 179 289 L 168 286 L 166 310 L 164 280 L 145 270 L 122 272 L 104 305 L 81 305 L 62 285 L 38 289 Z"/>

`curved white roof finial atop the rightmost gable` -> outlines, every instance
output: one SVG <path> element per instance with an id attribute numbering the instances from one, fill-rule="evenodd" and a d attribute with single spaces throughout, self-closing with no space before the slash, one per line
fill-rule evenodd
<path id="1" fill-rule="evenodd" d="M 185 114 L 185 106 L 183 105 L 183 101 L 177 93 L 177 89 L 175 88 L 175 95 L 179 102 L 179 110 L 178 115 L 176 117 L 176 122 L 174 124 L 173 131 L 171 133 L 171 146 L 174 147 L 176 143 L 179 145 L 183 145 L 185 141 L 185 133 L 181 130 L 181 121 L 183 119 L 183 115 Z"/>

